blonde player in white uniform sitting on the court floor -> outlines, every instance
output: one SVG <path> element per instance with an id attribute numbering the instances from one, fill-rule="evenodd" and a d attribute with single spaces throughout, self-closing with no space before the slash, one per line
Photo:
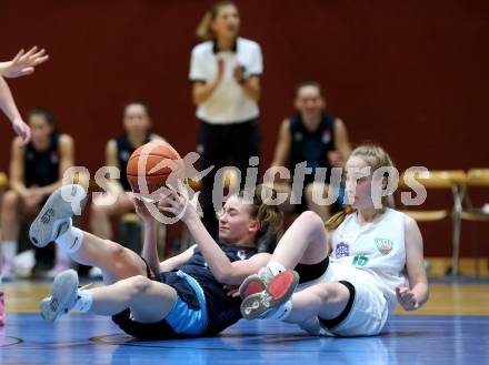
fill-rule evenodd
<path id="1" fill-rule="evenodd" d="M 380 166 L 392 166 L 381 148 L 362 145 L 352 152 L 347 162 L 352 210 L 332 216 L 326 224 L 328 232 L 312 212 L 296 220 L 267 267 L 243 282 L 246 318 L 297 323 L 315 335 L 365 336 L 382 331 L 397 303 L 406 311 L 426 303 L 429 290 L 417 223 L 396 210 L 375 206 L 372 186 L 386 189 L 391 175 L 359 175 L 363 168 L 373 172 Z M 296 285 L 281 273 L 298 263 L 310 268 L 309 283 L 299 285 L 285 304 L 275 305 L 283 303 L 281 293 L 290 293 L 288 288 Z M 326 267 L 322 273 L 321 267 Z M 280 292 L 277 281 L 283 286 Z"/>

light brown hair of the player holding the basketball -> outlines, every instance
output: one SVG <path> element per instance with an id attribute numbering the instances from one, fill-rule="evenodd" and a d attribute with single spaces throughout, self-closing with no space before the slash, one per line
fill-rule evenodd
<path id="1" fill-rule="evenodd" d="M 252 204 L 247 204 L 249 214 L 253 220 L 258 220 L 260 229 L 257 231 L 256 242 L 257 246 L 262 246 L 277 240 L 277 234 L 282 226 L 283 213 L 280 207 L 275 204 L 268 204 L 263 201 L 263 190 L 269 190 L 272 200 L 277 200 L 277 191 L 263 184 L 255 187 Z M 244 191 L 238 193 L 238 197 L 244 199 Z M 265 242 L 267 241 L 267 242 Z"/>

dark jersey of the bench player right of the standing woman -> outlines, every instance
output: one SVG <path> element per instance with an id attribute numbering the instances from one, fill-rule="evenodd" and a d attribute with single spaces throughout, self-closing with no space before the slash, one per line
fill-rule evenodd
<path id="1" fill-rule="evenodd" d="M 335 120 L 336 116 L 321 113 L 318 128 L 310 132 L 302 122 L 300 114 L 290 118 L 290 133 L 292 138 L 291 168 L 306 162 L 312 169 L 311 174 L 305 176 L 305 184 L 315 181 L 316 169 L 327 168 L 326 182 L 331 176 L 331 164 L 328 161 L 328 152 L 335 150 Z"/>

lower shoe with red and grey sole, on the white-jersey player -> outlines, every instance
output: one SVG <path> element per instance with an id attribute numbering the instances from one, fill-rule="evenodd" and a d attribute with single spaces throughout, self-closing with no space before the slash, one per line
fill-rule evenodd
<path id="1" fill-rule="evenodd" d="M 257 283 L 252 281 L 253 285 Z M 285 271 L 273 276 L 266 288 L 259 293 L 247 296 L 241 303 L 241 315 L 246 320 L 265 318 L 286 303 L 299 284 L 299 274 L 292 270 Z M 241 292 L 241 291 L 240 291 Z"/>

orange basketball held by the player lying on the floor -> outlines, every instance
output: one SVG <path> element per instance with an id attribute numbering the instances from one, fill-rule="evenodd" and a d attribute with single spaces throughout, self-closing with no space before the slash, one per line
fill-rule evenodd
<path id="1" fill-rule="evenodd" d="M 183 162 L 170 144 L 150 142 L 131 154 L 126 172 L 134 193 L 151 194 L 166 184 L 177 187 L 183 176 Z"/>

